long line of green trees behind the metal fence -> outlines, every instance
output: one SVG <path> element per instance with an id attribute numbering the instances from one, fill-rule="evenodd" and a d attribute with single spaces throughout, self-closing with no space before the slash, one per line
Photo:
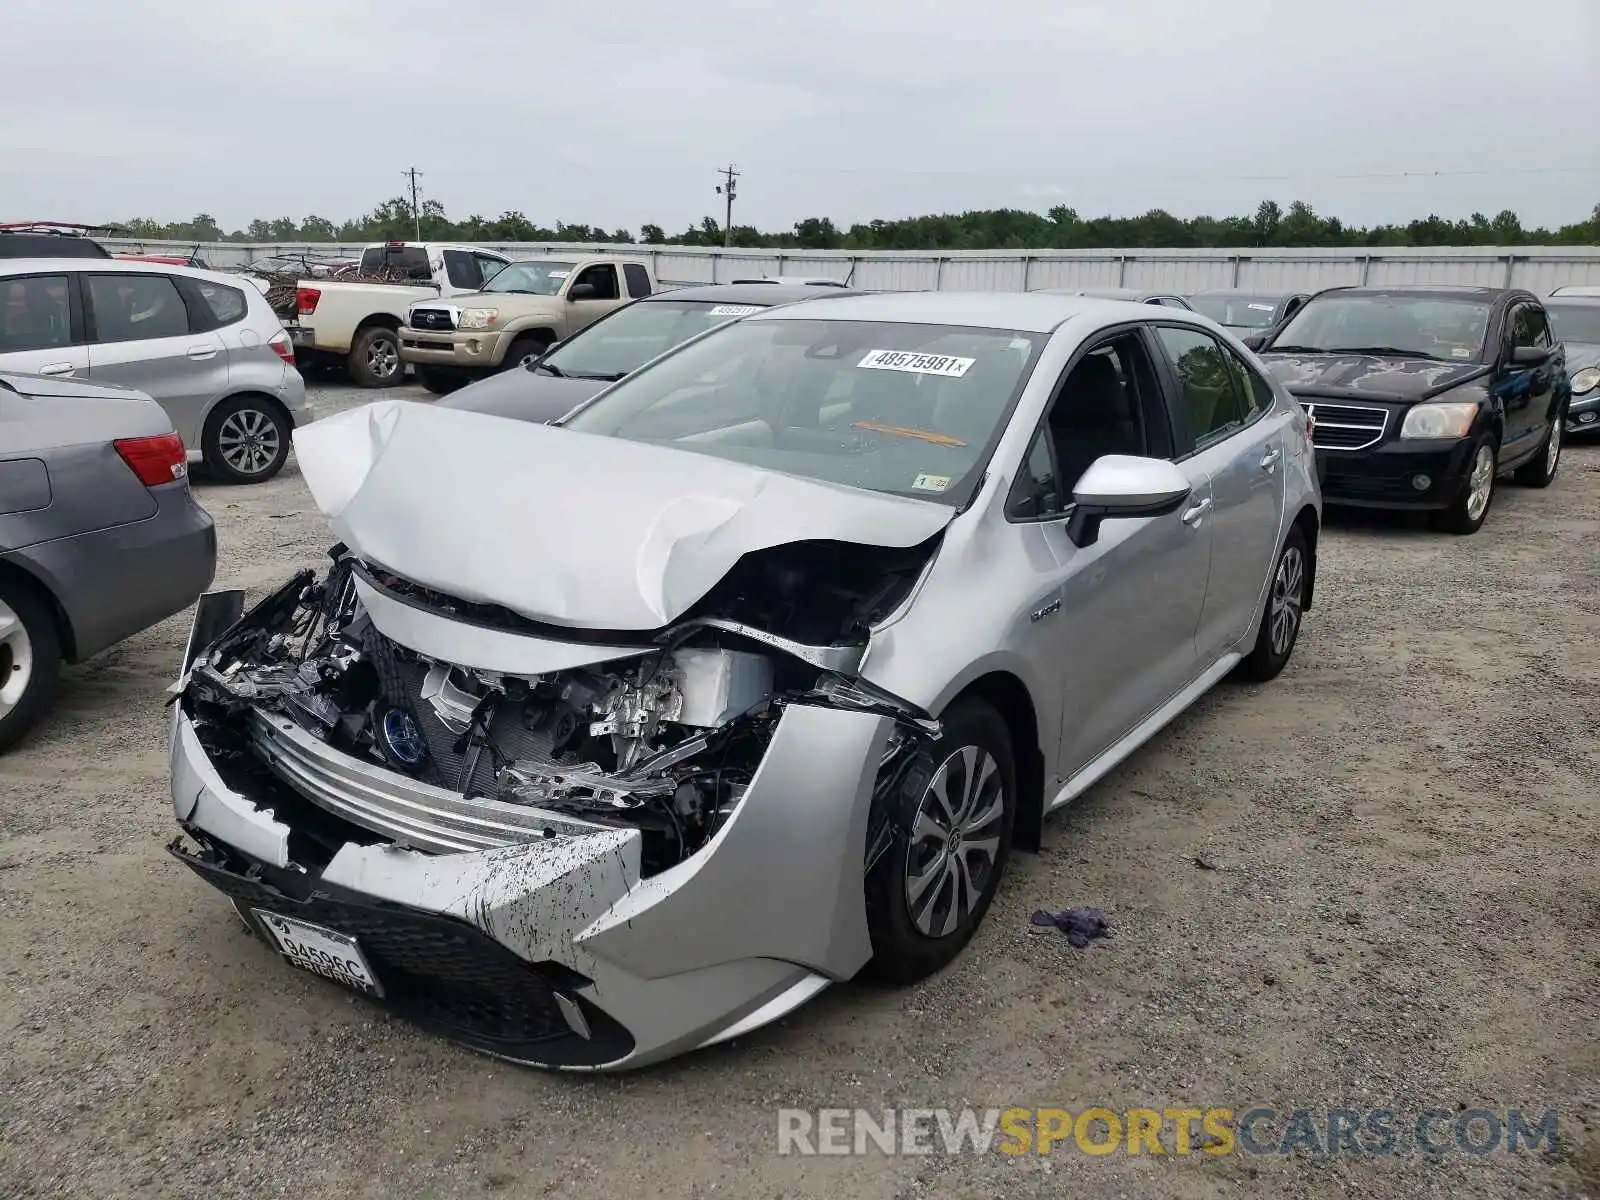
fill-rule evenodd
<path id="1" fill-rule="evenodd" d="M 258 218 L 246 229 L 224 232 L 206 213 L 192 221 L 162 224 L 147 218 L 117 222 L 130 237 L 171 242 L 386 242 L 411 238 L 421 221 L 427 242 L 622 242 L 653 246 L 720 246 L 723 230 L 715 218 L 704 218 L 682 234 L 661 226 L 642 226 L 638 237 L 629 229 L 566 224 L 554 227 L 523 216 L 446 216 L 443 205 L 426 200 L 413 216 L 411 205 L 395 197 L 371 213 L 334 224 L 322 216 L 302 221 Z M 970 213 L 910 216 L 898 221 L 856 222 L 845 229 L 830 218 L 811 216 L 782 232 L 754 226 L 733 226 L 734 246 L 774 250 L 1107 250 L 1178 246 L 1528 246 L 1600 245 L 1600 203 L 1587 221 L 1558 229 L 1525 229 L 1509 208 L 1496 216 L 1474 213 L 1461 221 L 1430 214 L 1406 224 L 1349 226 L 1322 216 L 1302 200 L 1285 211 L 1275 200 L 1262 200 L 1253 216 L 1179 218 L 1162 208 L 1141 216 L 1082 218 L 1075 208 L 1056 205 L 1048 213 L 1021 208 L 989 208 Z"/>

